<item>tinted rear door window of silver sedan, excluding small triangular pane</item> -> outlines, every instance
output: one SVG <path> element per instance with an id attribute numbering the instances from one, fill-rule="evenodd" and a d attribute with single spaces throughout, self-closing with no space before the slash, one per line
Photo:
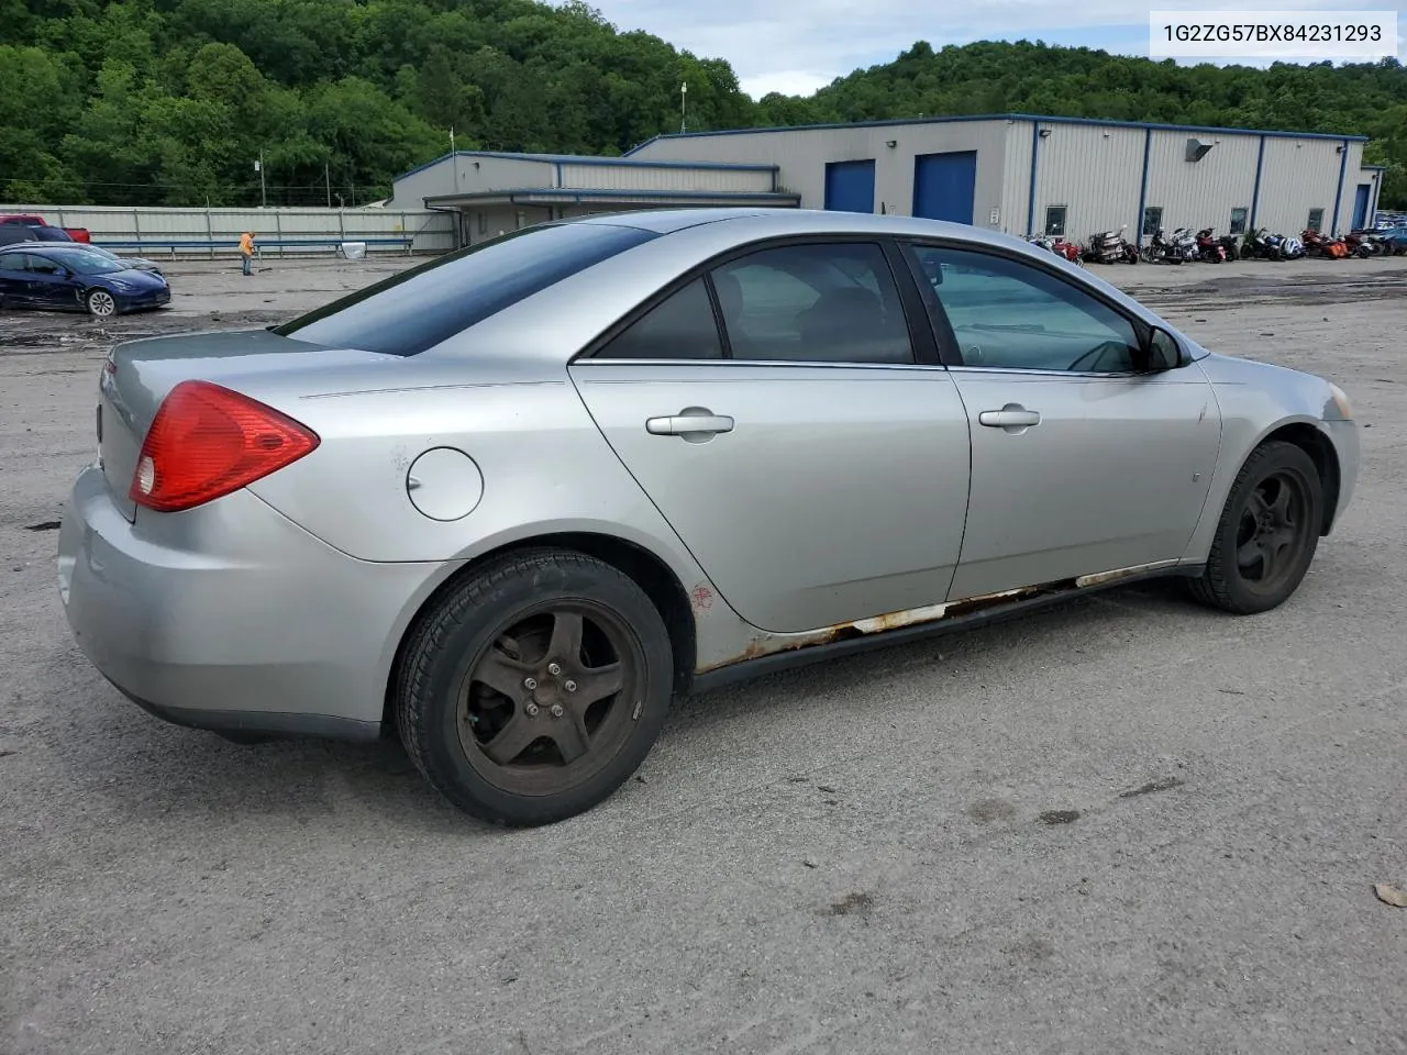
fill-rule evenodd
<path id="1" fill-rule="evenodd" d="M 761 249 L 711 280 L 733 359 L 913 362 L 899 288 L 872 242 Z"/>

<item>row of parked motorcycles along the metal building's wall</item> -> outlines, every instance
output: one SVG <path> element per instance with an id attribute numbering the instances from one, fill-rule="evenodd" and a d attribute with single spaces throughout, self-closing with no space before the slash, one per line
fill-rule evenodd
<path id="1" fill-rule="evenodd" d="M 1272 235 L 1265 228 L 1238 235 L 1221 235 L 1206 226 L 1197 232 L 1179 226 L 1172 234 L 1158 228 L 1147 245 L 1124 238 L 1127 224 L 1117 231 L 1100 231 L 1083 245 L 1055 235 L 1033 235 L 1027 242 L 1048 249 L 1071 263 L 1224 263 L 1225 260 L 1299 260 L 1306 256 L 1345 259 L 1392 256 L 1404 252 L 1394 242 L 1370 231 L 1354 231 L 1330 238 L 1306 229 L 1299 238 Z"/>

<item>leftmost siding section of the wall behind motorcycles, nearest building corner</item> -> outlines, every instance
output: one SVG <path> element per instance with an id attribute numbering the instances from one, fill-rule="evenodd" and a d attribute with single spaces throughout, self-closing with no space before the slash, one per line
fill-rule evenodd
<path id="1" fill-rule="evenodd" d="M 1029 134 L 1030 125 L 1026 128 Z M 1144 129 L 1067 124 L 1041 128 L 1048 128 L 1050 135 L 1037 143 L 1034 234 L 1045 229 L 1047 208 L 1064 205 L 1065 236 L 1072 242 L 1124 225 L 1124 238 L 1137 241 Z M 1029 145 L 1026 153 L 1029 173 Z"/>

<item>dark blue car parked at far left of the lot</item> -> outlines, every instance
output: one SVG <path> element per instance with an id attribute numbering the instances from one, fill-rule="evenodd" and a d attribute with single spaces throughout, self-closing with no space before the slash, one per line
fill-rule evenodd
<path id="1" fill-rule="evenodd" d="M 152 271 L 73 242 L 21 242 L 0 248 L 0 308 L 86 311 L 96 318 L 159 308 L 172 288 Z"/>

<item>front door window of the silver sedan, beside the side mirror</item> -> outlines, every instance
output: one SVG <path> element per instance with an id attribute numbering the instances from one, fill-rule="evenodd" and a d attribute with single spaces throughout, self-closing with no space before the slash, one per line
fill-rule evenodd
<path id="1" fill-rule="evenodd" d="M 964 366 L 1119 374 L 1144 359 L 1133 322 L 1054 274 L 967 249 L 910 252 Z"/>

